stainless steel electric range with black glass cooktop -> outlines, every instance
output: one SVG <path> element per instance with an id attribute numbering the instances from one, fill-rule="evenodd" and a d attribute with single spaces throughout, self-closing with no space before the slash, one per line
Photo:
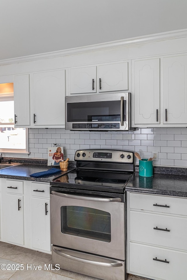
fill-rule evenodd
<path id="1" fill-rule="evenodd" d="M 125 185 L 134 153 L 79 150 L 77 167 L 50 183 L 52 263 L 125 279 Z"/>

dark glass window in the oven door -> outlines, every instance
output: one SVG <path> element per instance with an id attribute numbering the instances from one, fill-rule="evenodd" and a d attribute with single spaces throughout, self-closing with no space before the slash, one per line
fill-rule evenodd
<path id="1" fill-rule="evenodd" d="M 110 242 L 110 213 L 89 207 L 61 206 L 61 232 Z"/>

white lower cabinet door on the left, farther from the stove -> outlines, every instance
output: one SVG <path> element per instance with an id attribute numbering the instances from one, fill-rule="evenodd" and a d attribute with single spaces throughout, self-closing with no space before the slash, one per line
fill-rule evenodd
<path id="1" fill-rule="evenodd" d="M 6 194 L 6 241 L 24 245 L 23 195 Z"/>

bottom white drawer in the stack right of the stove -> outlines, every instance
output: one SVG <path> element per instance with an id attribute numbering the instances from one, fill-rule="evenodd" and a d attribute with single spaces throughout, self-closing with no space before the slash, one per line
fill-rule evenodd
<path id="1" fill-rule="evenodd" d="M 131 274 L 151 279 L 186 279 L 187 253 L 130 242 Z"/>

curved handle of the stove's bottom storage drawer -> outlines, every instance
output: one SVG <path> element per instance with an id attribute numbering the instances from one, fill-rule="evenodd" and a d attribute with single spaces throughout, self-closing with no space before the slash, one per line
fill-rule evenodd
<path id="1" fill-rule="evenodd" d="M 86 260 L 86 259 L 83 259 L 83 258 L 79 258 L 79 257 L 75 257 L 75 256 L 72 256 L 72 255 L 69 255 L 69 254 L 66 254 L 66 253 L 63 253 L 61 252 L 60 250 L 57 250 L 55 248 L 53 248 L 53 251 L 64 257 L 64 258 L 68 258 L 70 260 L 76 260 L 78 262 L 84 262 L 84 263 L 88 263 L 90 265 L 100 265 L 100 266 L 105 266 L 105 267 L 119 267 L 119 266 L 122 266 L 122 263 L 121 262 L 98 262 L 98 261 L 95 261 L 95 260 Z M 78 253 L 78 252 L 76 252 Z"/>

